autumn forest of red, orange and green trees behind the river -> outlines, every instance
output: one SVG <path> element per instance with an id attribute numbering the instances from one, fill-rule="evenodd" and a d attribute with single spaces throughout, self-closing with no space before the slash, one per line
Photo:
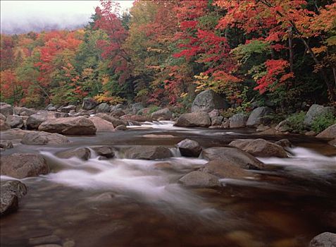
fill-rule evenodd
<path id="1" fill-rule="evenodd" d="M 84 97 L 187 111 L 212 89 L 232 112 L 295 112 L 336 100 L 330 0 L 101 1 L 79 30 L 1 34 L 1 102 L 45 107 Z"/>

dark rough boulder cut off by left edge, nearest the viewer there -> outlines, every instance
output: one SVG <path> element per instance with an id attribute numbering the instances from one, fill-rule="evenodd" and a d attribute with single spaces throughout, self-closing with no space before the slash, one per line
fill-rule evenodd
<path id="1" fill-rule="evenodd" d="M 27 193 L 25 184 L 17 180 L 1 181 L 0 190 L 0 216 L 18 210 L 18 198 Z"/>

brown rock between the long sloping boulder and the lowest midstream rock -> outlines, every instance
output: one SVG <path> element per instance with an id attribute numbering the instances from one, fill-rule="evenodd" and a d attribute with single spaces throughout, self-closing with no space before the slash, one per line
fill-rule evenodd
<path id="1" fill-rule="evenodd" d="M 237 165 L 232 164 L 228 160 L 215 159 L 206 164 L 200 169 L 209 174 L 213 174 L 220 178 L 243 179 L 245 177 L 254 176 L 251 172 L 246 171 Z"/>

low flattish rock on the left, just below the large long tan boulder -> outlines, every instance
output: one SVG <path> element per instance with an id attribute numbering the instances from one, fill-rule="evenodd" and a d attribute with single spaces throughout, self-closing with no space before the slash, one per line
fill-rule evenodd
<path id="1" fill-rule="evenodd" d="M 70 143 L 70 140 L 64 135 L 58 133 L 47 133 L 44 131 L 33 131 L 23 135 L 21 140 L 25 145 L 46 145 L 46 144 L 66 144 Z"/>

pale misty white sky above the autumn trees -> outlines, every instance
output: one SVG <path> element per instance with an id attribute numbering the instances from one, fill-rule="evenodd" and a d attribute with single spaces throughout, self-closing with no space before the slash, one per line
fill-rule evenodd
<path id="1" fill-rule="evenodd" d="M 133 0 L 118 1 L 123 10 Z M 7 1 L 1 0 L 1 33 L 14 34 L 85 25 L 99 1 Z"/>

